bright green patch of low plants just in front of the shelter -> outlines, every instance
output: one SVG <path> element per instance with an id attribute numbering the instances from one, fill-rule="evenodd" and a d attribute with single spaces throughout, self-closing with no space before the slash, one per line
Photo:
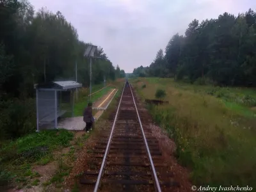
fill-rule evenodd
<path id="1" fill-rule="evenodd" d="M 40 131 L 9 142 L 0 150 L 1 162 L 37 161 L 58 146 L 67 147 L 73 134 L 65 129 Z"/>

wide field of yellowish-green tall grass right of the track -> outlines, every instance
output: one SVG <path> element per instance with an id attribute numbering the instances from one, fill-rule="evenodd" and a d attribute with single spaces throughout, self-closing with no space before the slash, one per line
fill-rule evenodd
<path id="1" fill-rule="evenodd" d="M 145 99 L 154 99 L 159 88 L 166 91 L 169 104 L 151 106 L 150 113 L 175 140 L 193 184 L 256 187 L 255 90 L 160 78 L 132 82 Z"/>

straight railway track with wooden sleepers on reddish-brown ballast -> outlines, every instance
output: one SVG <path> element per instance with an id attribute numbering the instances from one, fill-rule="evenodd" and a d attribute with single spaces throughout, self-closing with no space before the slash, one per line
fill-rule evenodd
<path id="1" fill-rule="evenodd" d="M 111 130 L 102 131 L 93 147 L 95 166 L 84 172 L 80 184 L 90 185 L 95 192 L 179 190 L 158 140 L 150 134 L 150 116 L 139 104 L 126 82 L 118 108 L 109 116 Z"/>

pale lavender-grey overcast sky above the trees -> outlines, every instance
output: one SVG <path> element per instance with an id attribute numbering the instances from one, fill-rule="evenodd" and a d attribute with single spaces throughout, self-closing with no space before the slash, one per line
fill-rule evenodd
<path id="1" fill-rule="evenodd" d="M 79 39 L 103 47 L 113 65 L 132 72 L 148 66 L 175 33 L 184 34 L 193 19 L 237 15 L 256 0 L 30 0 L 35 10 L 60 11 Z"/>

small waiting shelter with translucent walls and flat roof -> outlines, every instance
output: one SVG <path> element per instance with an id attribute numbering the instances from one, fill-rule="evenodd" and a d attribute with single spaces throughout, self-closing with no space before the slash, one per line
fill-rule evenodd
<path id="1" fill-rule="evenodd" d="M 82 84 L 76 81 L 52 81 L 35 84 L 36 131 L 57 129 L 58 118 L 74 116 L 76 89 Z"/>

